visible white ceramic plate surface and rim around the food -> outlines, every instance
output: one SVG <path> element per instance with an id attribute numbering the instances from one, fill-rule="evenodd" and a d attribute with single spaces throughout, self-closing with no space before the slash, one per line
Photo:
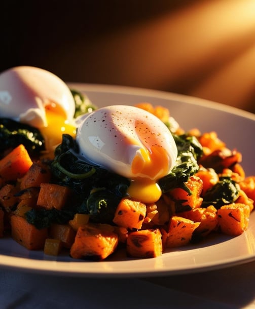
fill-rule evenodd
<path id="1" fill-rule="evenodd" d="M 127 87 L 70 84 L 84 91 L 98 107 L 112 104 L 133 105 L 151 102 L 169 108 L 171 115 L 186 130 L 197 127 L 202 132 L 216 131 L 230 148 L 243 155 L 247 175 L 255 175 L 255 115 L 197 98 L 166 92 Z M 30 272 L 83 277 L 145 277 L 207 271 L 255 260 L 255 213 L 241 236 L 219 236 L 199 245 L 171 250 L 151 259 L 127 259 L 124 252 L 102 262 L 80 261 L 68 257 L 45 256 L 28 251 L 10 238 L 0 240 L 0 266 Z"/>

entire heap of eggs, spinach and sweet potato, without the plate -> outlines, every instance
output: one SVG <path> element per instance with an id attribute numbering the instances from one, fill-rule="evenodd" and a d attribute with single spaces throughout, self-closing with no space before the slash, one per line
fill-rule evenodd
<path id="1" fill-rule="evenodd" d="M 248 227 L 255 176 L 241 153 L 163 106 L 97 108 L 21 66 L 0 74 L 0 114 L 0 236 L 28 250 L 152 258 Z"/>

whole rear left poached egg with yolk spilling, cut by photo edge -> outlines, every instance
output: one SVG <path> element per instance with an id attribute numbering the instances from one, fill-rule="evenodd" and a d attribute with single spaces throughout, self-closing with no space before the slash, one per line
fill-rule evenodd
<path id="1" fill-rule="evenodd" d="M 17 66 L 0 74 L 0 115 L 38 128 L 46 149 L 53 151 L 62 134 L 76 135 L 75 101 L 67 85 L 53 73 Z"/>

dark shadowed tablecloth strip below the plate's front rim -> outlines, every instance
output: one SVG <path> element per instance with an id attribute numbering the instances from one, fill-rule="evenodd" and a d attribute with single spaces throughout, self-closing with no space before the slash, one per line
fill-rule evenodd
<path id="1" fill-rule="evenodd" d="M 198 274 L 98 279 L 0 269 L 1 309 L 255 308 L 255 262 Z"/>

